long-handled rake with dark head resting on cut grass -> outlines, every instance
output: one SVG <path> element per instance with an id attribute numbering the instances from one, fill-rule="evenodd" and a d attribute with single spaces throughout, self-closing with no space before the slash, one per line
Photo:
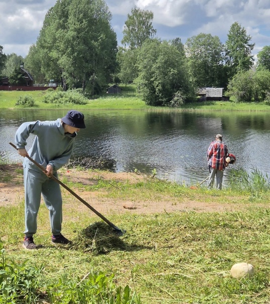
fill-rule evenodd
<path id="1" fill-rule="evenodd" d="M 10 145 L 12 145 L 15 149 L 17 149 L 16 145 L 12 142 L 9 142 Z M 39 167 L 40 170 L 42 170 L 45 174 L 47 174 L 47 170 L 41 166 L 39 163 L 34 161 L 30 156 L 26 156 L 32 163 L 34 163 L 37 167 Z M 60 184 L 62 187 L 64 187 L 68 192 L 70 192 L 72 195 L 74 195 L 79 201 L 81 201 L 86 207 L 88 207 L 90 210 L 92 210 L 97 216 L 102 218 L 108 225 L 110 225 L 116 232 L 117 236 L 121 237 L 126 232 L 125 230 L 119 229 L 116 227 L 112 222 L 110 222 L 105 216 L 103 216 L 101 213 L 99 213 L 95 208 L 93 208 L 91 205 L 89 205 L 84 199 L 82 199 L 78 194 L 76 194 L 74 191 L 72 191 L 68 186 L 63 184 L 59 179 L 57 179 L 54 175 L 50 174 L 50 177 L 55 180 L 58 184 Z"/>

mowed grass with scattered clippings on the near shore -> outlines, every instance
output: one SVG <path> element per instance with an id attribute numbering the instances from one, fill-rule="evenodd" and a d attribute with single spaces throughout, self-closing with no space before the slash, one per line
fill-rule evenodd
<path id="1" fill-rule="evenodd" d="M 133 302 L 138 303 L 269 303 L 269 189 L 264 188 L 254 198 L 252 191 L 243 189 L 241 193 L 239 189 L 231 188 L 220 192 L 204 187 L 191 190 L 149 177 L 137 183 L 104 181 L 102 178 L 93 186 L 65 183 L 77 193 L 99 191 L 100 204 L 105 198 L 116 200 L 117 197 L 128 201 L 152 198 L 160 202 L 167 198 L 178 204 L 183 197 L 188 197 L 194 201 L 232 204 L 236 210 L 239 205 L 239 210 L 108 212 L 106 217 L 125 229 L 126 234 L 112 241 L 109 234 L 102 235 L 102 231 L 97 230 L 94 239 L 84 247 L 84 232 L 93 224 L 104 222 L 63 191 L 63 234 L 73 240 L 74 246 L 55 247 L 50 243 L 48 210 L 42 204 L 35 241 L 43 247 L 26 251 L 22 249 L 24 202 L 1 207 L 0 236 L 6 258 L 42 268 L 42 281 L 56 284 L 59 293 L 70 291 L 71 285 L 78 289 L 89 273 L 102 272 L 114 276 L 117 286 L 128 285 L 134 294 Z M 243 204 L 245 207 L 240 208 Z M 99 251 L 100 248 L 105 250 Z M 239 262 L 252 264 L 255 275 L 232 278 L 230 268 Z M 77 303 L 75 299 L 59 302 Z M 98 302 L 109 303 L 106 299 Z M 85 303 L 88 302 L 85 300 Z"/>

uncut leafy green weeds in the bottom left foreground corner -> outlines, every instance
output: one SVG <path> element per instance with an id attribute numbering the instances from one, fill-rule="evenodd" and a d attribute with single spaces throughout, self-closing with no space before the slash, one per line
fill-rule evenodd
<path id="1" fill-rule="evenodd" d="M 0 248 L 3 248 L 0 243 Z M 46 282 L 39 269 L 15 262 L 7 263 L 5 250 L 0 251 L 0 303 L 111 303 L 140 304 L 140 296 L 132 294 L 128 285 L 116 286 L 114 274 L 88 273 L 84 278 L 63 275 L 59 280 Z"/>

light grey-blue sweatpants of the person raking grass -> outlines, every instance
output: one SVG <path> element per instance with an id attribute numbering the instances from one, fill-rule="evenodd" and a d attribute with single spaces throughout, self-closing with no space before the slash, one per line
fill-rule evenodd
<path id="1" fill-rule="evenodd" d="M 57 173 L 54 174 L 57 177 Z M 62 196 L 60 185 L 43 172 L 24 168 L 25 186 L 25 235 L 33 236 L 37 232 L 37 217 L 41 194 L 49 209 L 51 231 L 59 235 L 62 227 Z"/>

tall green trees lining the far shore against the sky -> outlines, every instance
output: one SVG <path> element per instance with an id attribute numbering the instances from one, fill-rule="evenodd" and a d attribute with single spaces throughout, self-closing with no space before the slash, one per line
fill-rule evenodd
<path id="1" fill-rule="evenodd" d="M 92 97 L 109 83 L 134 83 L 141 98 L 157 106 L 193 101 L 200 87 L 222 87 L 241 102 L 269 99 L 270 46 L 254 67 L 254 43 L 238 22 L 225 43 L 200 33 L 184 44 L 179 37 L 158 38 L 153 12 L 134 7 L 119 47 L 111 18 L 103 0 L 57 0 L 26 58 L 6 55 L 0 46 L 0 75 L 18 83 L 24 61 L 36 83 L 54 79 L 64 90 L 81 88 Z"/>

